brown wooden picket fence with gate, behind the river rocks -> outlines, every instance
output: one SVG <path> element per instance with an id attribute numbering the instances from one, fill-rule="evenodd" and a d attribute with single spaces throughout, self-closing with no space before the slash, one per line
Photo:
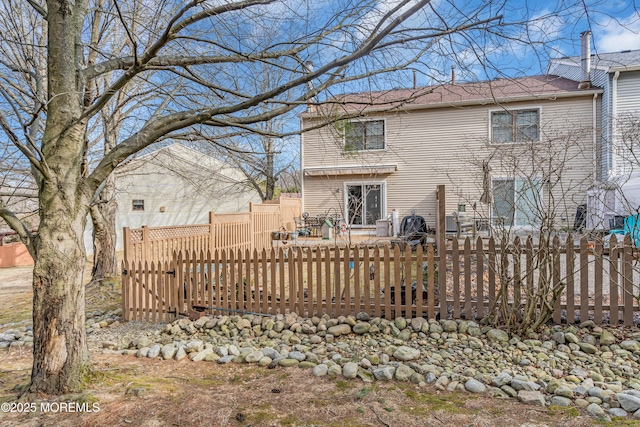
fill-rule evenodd
<path id="1" fill-rule="evenodd" d="M 123 262 L 123 316 L 168 322 L 200 310 L 478 319 L 500 303 L 519 310 L 547 275 L 564 284 L 554 322 L 632 325 L 640 294 L 636 252 L 629 236 L 608 243 L 605 249 L 602 240 L 590 246 L 583 238 L 576 245 L 568 237 L 562 245 L 556 237 L 544 260 L 531 238 L 509 245 L 467 238 L 442 257 L 432 246 L 179 251 L 170 260 Z M 507 296 L 496 301 L 501 286 Z"/>

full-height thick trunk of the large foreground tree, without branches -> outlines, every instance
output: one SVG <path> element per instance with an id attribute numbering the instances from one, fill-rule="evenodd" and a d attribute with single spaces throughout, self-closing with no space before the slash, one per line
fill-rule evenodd
<path id="1" fill-rule="evenodd" d="M 87 0 L 48 0 L 47 121 L 33 242 L 32 393 L 79 390 L 90 369 L 84 327 L 83 233 L 95 189 L 85 185 L 82 33 Z"/>

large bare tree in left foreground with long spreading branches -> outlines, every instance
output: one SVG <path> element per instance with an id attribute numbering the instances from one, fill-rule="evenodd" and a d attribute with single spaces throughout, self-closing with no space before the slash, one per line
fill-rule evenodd
<path id="1" fill-rule="evenodd" d="M 98 1 L 29 0 L 22 8 L 4 0 L 0 5 L 3 16 L 23 21 L 11 31 L 3 29 L 3 46 L 33 48 L 27 55 L 3 59 L 3 74 L 10 78 L 0 84 L 0 126 L 28 161 L 38 192 L 37 235 L 0 203 L 0 216 L 35 258 L 33 393 L 78 389 L 90 369 L 82 234 L 92 203 L 125 159 L 187 128 L 268 133 L 255 124 L 312 97 L 321 100 L 319 95 L 331 87 L 342 90 L 340 85 L 404 69 L 428 53 L 425 40 L 504 31 L 498 14 L 485 4 L 462 9 L 443 5 L 445 23 L 434 21 L 436 5 L 427 0 L 384 7 L 270 0 L 112 4 L 117 9 L 112 16 L 118 19 L 109 25 L 125 30 L 128 49 L 90 46 L 88 20 L 100 8 Z M 140 8 L 150 19 L 137 21 Z M 423 27 L 429 16 L 434 25 Z M 276 43 L 247 37 L 284 28 L 286 36 Z M 88 60 L 92 49 L 99 49 L 95 64 Z M 317 64 L 313 71 L 304 66 L 308 60 Z M 259 91 L 239 84 L 236 77 L 256 75 L 257 64 L 285 70 L 285 81 Z M 216 78 L 200 78 L 204 69 L 214 69 Z M 87 90 L 100 79 L 107 83 Z M 190 84 L 184 85 L 185 80 Z M 307 85 L 311 81 L 313 88 Z M 90 166 L 90 125 L 117 102 L 120 92 L 139 82 L 153 87 L 157 101 L 129 111 L 127 134 Z M 268 111 L 259 108 L 287 92 L 295 96 Z"/>

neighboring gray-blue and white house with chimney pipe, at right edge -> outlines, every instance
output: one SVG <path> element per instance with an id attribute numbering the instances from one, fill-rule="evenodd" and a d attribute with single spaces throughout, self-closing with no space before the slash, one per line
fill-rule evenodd
<path id="1" fill-rule="evenodd" d="M 590 35 L 581 34 L 580 56 L 553 59 L 548 72 L 603 90 L 598 182 L 589 191 L 587 226 L 608 228 L 614 215 L 640 209 L 640 50 L 591 54 Z"/>

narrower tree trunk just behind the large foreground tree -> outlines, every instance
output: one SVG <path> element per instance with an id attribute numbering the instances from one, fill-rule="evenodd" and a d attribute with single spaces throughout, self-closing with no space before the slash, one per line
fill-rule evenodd
<path id="1" fill-rule="evenodd" d="M 99 201 L 91 207 L 93 223 L 93 269 L 91 281 L 113 280 L 119 276 L 116 256 L 116 213 L 115 176 L 107 178 L 100 193 Z"/>

